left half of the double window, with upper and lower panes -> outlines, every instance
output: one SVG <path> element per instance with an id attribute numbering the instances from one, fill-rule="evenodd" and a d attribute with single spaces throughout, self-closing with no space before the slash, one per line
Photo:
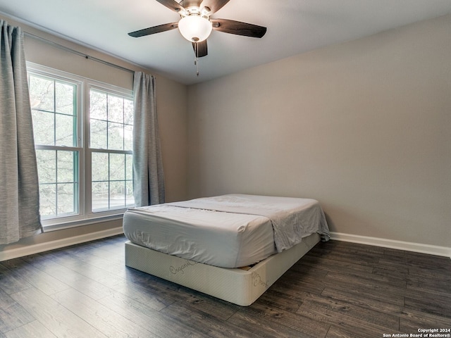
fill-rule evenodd
<path id="1" fill-rule="evenodd" d="M 78 84 L 33 74 L 29 87 L 42 218 L 78 215 Z"/>

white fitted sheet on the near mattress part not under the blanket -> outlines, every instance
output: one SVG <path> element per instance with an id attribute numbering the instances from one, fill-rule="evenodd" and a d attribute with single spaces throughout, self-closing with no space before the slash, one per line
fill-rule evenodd
<path id="1" fill-rule="evenodd" d="M 135 244 L 222 268 L 257 263 L 277 252 L 271 220 L 259 215 L 163 204 L 128 210 L 123 230 Z"/>

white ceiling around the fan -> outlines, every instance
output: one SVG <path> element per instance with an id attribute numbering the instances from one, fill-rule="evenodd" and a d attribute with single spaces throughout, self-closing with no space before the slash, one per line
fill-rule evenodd
<path id="1" fill-rule="evenodd" d="M 180 15 L 155 0 L 0 0 L 0 12 L 193 84 L 445 15 L 451 13 L 451 0 L 230 0 L 211 18 L 265 26 L 266 35 L 256 39 L 213 31 L 209 55 L 199 59 L 199 77 L 192 46 L 178 30 L 127 35 L 178 21 Z"/>

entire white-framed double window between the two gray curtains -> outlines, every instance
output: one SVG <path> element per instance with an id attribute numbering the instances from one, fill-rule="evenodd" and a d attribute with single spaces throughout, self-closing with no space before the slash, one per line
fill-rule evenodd
<path id="1" fill-rule="evenodd" d="M 132 92 L 28 64 L 42 223 L 134 206 Z"/>

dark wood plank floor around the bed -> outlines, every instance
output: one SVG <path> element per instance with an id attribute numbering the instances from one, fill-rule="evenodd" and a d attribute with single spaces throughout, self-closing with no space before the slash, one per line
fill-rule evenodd
<path id="1" fill-rule="evenodd" d="M 124 242 L 1 262 L 0 337 L 362 338 L 451 328 L 450 258 L 320 243 L 240 307 L 126 268 Z"/>

